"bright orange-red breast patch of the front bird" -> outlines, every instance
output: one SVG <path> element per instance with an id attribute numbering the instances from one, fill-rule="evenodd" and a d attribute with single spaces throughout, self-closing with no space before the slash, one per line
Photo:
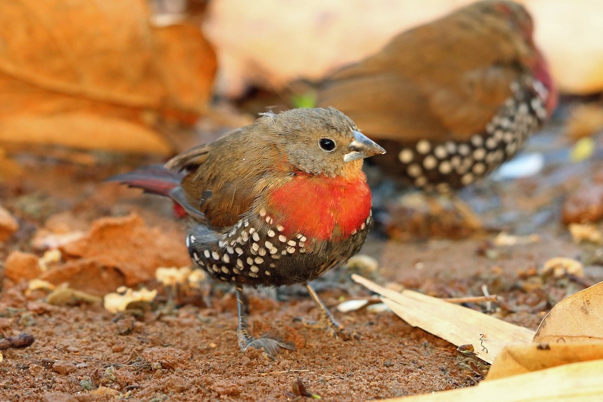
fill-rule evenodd
<path id="1" fill-rule="evenodd" d="M 362 172 L 353 180 L 297 174 L 271 193 L 268 205 L 285 234 L 346 239 L 370 214 L 371 193 Z"/>

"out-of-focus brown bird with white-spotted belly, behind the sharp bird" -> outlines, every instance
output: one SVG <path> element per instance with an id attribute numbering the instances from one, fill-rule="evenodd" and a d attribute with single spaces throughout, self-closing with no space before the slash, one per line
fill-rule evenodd
<path id="1" fill-rule="evenodd" d="M 378 140 L 385 172 L 447 193 L 513 157 L 551 116 L 557 92 L 533 28 L 514 2 L 468 5 L 336 71 L 318 105 Z"/>

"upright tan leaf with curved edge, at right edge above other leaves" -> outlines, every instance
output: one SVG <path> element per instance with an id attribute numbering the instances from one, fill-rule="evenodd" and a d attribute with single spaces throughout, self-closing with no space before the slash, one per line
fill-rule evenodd
<path id="1" fill-rule="evenodd" d="M 555 304 L 534 336 L 534 342 L 593 341 L 603 341 L 603 282 Z"/>

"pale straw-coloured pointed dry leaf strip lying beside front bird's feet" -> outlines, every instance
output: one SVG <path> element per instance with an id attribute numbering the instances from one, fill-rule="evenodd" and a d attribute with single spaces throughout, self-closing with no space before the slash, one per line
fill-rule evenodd
<path id="1" fill-rule="evenodd" d="M 391 291 L 355 274 L 352 279 L 382 295 L 384 303 L 408 324 L 420 327 L 456 346 L 472 344 L 478 357 L 488 363 L 494 361 L 494 357 L 505 345 L 531 342 L 534 337 L 534 331 L 528 328 L 467 307 L 417 292 Z"/>

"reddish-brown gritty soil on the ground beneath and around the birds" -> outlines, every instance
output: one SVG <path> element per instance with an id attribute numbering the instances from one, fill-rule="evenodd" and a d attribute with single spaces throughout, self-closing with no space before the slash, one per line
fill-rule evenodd
<path id="1" fill-rule="evenodd" d="M 544 135 L 532 149 L 563 148 L 558 134 Z M 58 213 L 71 212 L 79 221 L 72 225 L 81 230 L 102 216 L 132 211 L 150 227 L 182 230 L 168 202 L 100 183 L 125 166 L 78 167 L 29 157 L 20 163 L 36 173 L 0 183 L 2 206 L 20 224 L 0 247 L 2 266 L 11 251 L 31 252 L 36 230 Z M 560 218 L 564 197 L 596 171 L 602 171 L 596 160 L 552 163 L 539 177 L 489 181 L 463 193 L 486 224 L 516 234 L 538 233 L 540 242 L 494 247 L 493 232 L 466 240 L 397 243 L 376 231 L 363 253 L 379 260 L 380 268 L 361 274 L 438 297 L 481 295 L 485 284 L 490 293 L 505 298 L 497 316 L 536 328 L 552 303 L 603 278 L 600 250 L 575 245 Z M 557 256 L 585 262 L 586 278 L 538 277 L 537 268 Z M 344 269 L 329 272 L 316 284 L 332 310 L 339 300 L 369 295 L 349 274 Z M 459 364 L 453 345 L 391 312 L 335 312 L 344 325 L 363 334 L 360 341 L 306 328 L 295 318 L 315 318 L 317 312 L 296 287 L 279 292 L 282 301 L 275 301 L 271 291 L 248 292 L 254 333 L 274 330 L 297 347 L 271 359 L 262 351 L 238 350 L 235 297 L 227 287 L 214 287 L 211 296 L 188 294 L 177 300 L 186 302 L 177 307 L 156 303 L 137 315 L 113 315 L 99 304 L 53 306 L 45 302 L 45 292 L 26 295 L 25 281 L 4 280 L 2 286 L 0 330 L 4 336 L 27 332 L 36 338 L 31 347 L 2 351 L 2 401 L 282 401 L 295 398 L 296 377 L 324 401 L 363 401 L 471 386 L 479 380 Z M 169 298 L 162 292 L 160 300 Z"/>

